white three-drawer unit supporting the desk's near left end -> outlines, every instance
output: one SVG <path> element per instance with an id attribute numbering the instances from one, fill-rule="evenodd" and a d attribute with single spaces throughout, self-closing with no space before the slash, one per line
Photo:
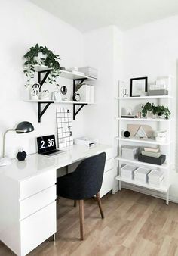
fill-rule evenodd
<path id="1" fill-rule="evenodd" d="M 25 180 L 2 176 L 0 239 L 18 256 L 25 256 L 57 232 L 55 183 L 54 168 Z"/>

